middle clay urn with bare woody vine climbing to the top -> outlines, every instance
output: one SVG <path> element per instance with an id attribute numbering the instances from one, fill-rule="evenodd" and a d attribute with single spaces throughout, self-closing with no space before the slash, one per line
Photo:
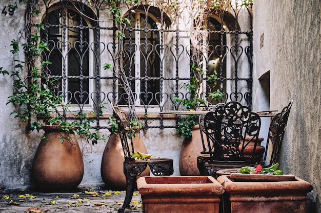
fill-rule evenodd
<path id="1" fill-rule="evenodd" d="M 125 98 L 126 105 L 128 107 L 128 114 L 130 119 L 130 126 L 132 132 L 132 141 L 133 146 L 135 148 L 134 151 L 139 151 L 142 153 L 147 153 L 147 149 L 145 147 L 142 135 L 140 131 L 144 128 L 141 123 L 139 123 L 139 119 L 135 112 L 135 99 L 136 96 L 132 90 L 131 82 L 128 80 L 128 76 L 126 75 L 126 68 L 124 67 L 124 58 L 125 58 L 125 50 L 123 46 L 122 39 L 125 37 L 125 28 L 126 25 L 130 23 L 130 20 L 126 17 L 123 17 L 122 14 L 122 6 L 126 6 L 129 8 L 129 5 L 135 5 L 138 3 L 138 0 L 126 0 L 126 1 L 107 1 L 107 4 L 110 6 L 111 14 L 113 15 L 114 21 L 114 29 L 115 34 L 118 39 L 118 54 L 116 58 L 113 60 L 112 64 L 106 63 L 104 64 L 105 69 L 109 69 L 115 73 L 116 79 L 119 87 L 122 87 L 124 93 L 127 94 Z M 123 5 L 122 5 L 123 4 Z M 105 184 L 112 188 L 113 190 L 126 190 L 126 177 L 124 174 L 124 151 L 123 147 L 117 134 L 117 125 L 113 118 L 110 118 L 110 132 L 111 135 L 107 141 L 103 158 L 101 164 L 101 175 L 105 182 Z M 128 130 L 129 131 L 129 130 Z M 141 176 L 149 176 L 150 169 L 149 167 L 144 170 Z"/>

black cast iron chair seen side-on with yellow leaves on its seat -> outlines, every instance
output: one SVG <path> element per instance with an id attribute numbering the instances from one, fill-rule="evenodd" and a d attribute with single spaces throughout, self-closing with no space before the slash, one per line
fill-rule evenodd
<path id="1" fill-rule="evenodd" d="M 113 106 L 113 115 L 117 122 L 119 137 L 121 138 L 123 151 L 125 155 L 124 160 L 124 174 L 126 176 L 126 197 L 122 208 L 118 209 L 118 213 L 123 213 L 126 208 L 129 207 L 131 202 L 133 192 L 136 188 L 136 179 L 137 176 L 147 168 L 149 165 L 151 172 L 155 176 L 170 176 L 173 174 L 173 160 L 168 158 L 151 158 L 150 160 L 135 160 L 132 157 L 134 153 L 134 147 L 132 143 L 130 122 L 128 113 L 122 111 L 116 106 Z M 127 129 L 127 130 L 126 130 Z M 128 140 L 131 140 L 131 143 L 128 143 Z"/>

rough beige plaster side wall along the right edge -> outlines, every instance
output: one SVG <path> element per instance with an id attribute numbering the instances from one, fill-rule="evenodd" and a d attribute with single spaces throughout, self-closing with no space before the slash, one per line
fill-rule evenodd
<path id="1" fill-rule="evenodd" d="M 254 2 L 254 79 L 270 71 L 270 109 L 294 101 L 279 161 L 286 173 L 314 186 L 309 212 L 321 212 L 320 8 L 318 0 Z M 254 88 L 256 104 L 264 104 L 262 86 Z"/>

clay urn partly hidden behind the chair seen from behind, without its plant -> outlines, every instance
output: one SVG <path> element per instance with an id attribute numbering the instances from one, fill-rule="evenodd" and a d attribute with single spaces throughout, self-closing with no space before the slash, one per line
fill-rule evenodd
<path id="1" fill-rule="evenodd" d="M 205 133 L 203 138 L 206 139 Z M 197 169 L 197 156 L 203 151 L 202 138 L 200 136 L 199 125 L 192 129 L 192 137 L 184 138 L 179 154 L 180 175 L 199 175 Z"/>

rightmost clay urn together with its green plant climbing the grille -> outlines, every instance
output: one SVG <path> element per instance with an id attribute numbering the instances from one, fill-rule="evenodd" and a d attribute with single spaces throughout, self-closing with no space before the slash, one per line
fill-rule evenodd
<path id="1" fill-rule="evenodd" d="M 176 104 L 181 103 L 186 110 L 198 110 L 199 108 L 207 109 L 209 102 L 203 97 L 202 90 L 202 76 L 205 74 L 206 70 L 199 68 L 196 64 L 191 64 L 192 78 L 188 83 L 183 84 L 183 87 L 189 93 L 189 96 L 185 99 L 174 98 Z M 198 77 L 198 78 L 197 78 Z M 216 70 L 214 73 L 208 77 L 207 81 L 213 84 L 213 88 L 216 85 L 215 79 L 217 78 Z M 209 93 L 209 97 L 212 100 L 222 100 L 223 92 L 217 90 Z M 199 175 L 197 169 L 196 157 L 201 151 L 203 151 L 203 145 L 201 143 L 202 136 L 200 135 L 199 125 L 198 125 L 199 115 L 186 114 L 177 116 L 177 126 L 176 131 L 179 136 L 183 136 L 183 144 L 180 148 L 179 154 L 179 172 L 180 175 Z M 203 135 L 203 138 L 206 136 Z"/>

